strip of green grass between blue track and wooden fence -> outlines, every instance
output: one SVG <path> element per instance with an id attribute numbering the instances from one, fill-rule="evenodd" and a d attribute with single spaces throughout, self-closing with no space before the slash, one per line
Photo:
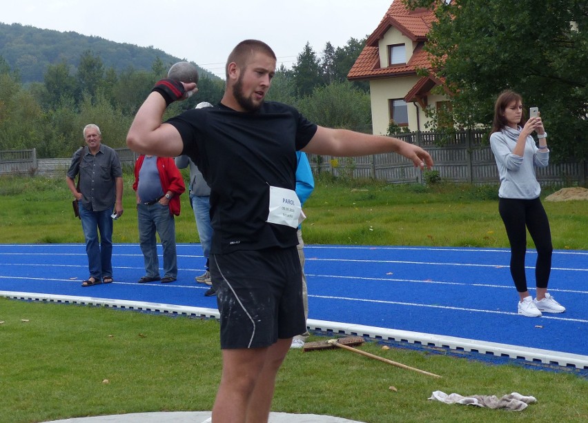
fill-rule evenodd
<path id="1" fill-rule="evenodd" d="M 137 243 L 132 175 L 125 175 L 124 215 L 115 222 L 115 243 Z M 544 188 L 543 196 L 556 188 Z M 304 207 L 306 244 L 508 247 L 498 215 L 498 186 L 393 185 L 375 181 L 341 183 L 317 178 Z M 73 217 L 64 179 L 0 177 L 0 239 L 4 243 L 84 242 Z M 588 250 L 586 201 L 543 201 L 553 246 Z M 35 228 L 35 230 L 31 230 Z M 198 242 L 188 195 L 176 218 L 179 243 Z M 531 238 L 529 248 L 533 248 Z"/>

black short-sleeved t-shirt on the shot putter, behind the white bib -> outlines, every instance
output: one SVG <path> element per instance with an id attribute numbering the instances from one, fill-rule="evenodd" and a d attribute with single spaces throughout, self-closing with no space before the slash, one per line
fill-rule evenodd
<path id="1" fill-rule="evenodd" d="M 269 187 L 295 190 L 296 150 L 315 135 L 315 124 L 271 101 L 254 113 L 222 104 L 188 110 L 167 123 L 210 186 L 211 253 L 297 245 L 295 228 L 266 222 Z"/>

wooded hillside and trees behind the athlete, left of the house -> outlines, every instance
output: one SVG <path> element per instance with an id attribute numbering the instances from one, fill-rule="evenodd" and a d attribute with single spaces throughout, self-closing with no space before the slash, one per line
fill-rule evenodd
<path id="1" fill-rule="evenodd" d="M 364 41 L 326 43 L 318 54 L 307 43 L 293 68 L 277 70 L 267 99 L 295 106 L 323 126 L 371 132 L 369 88 L 346 80 Z M 108 146 L 126 146 L 139 106 L 179 60 L 75 32 L 0 24 L 0 150 L 70 157 L 84 144 L 89 123 L 101 128 Z M 200 101 L 216 104 L 223 92 L 224 80 L 201 69 L 197 94 L 170 105 L 166 117 Z"/>

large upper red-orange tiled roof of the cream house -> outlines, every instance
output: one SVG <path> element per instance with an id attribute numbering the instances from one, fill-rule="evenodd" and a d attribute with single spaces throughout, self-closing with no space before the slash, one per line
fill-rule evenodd
<path id="1" fill-rule="evenodd" d="M 349 70 L 347 79 L 373 79 L 378 77 L 396 77 L 401 75 L 415 75 L 417 68 L 431 68 L 427 53 L 422 50 L 431 22 L 435 19 L 432 10 L 419 8 L 408 10 L 402 0 L 394 0 L 390 8 L 380 21 L 380 25 L 368 37 L 364 50 Z M 413 55 L 406 65 L 394 65 L 380 68 L 378 41 L 384 37 L 390 28 L 396 28 L 402 35 L 412 41 L 418 41 Z"/>

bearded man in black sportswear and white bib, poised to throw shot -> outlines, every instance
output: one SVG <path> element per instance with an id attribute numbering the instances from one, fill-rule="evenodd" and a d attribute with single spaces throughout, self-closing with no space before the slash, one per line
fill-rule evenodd
<path id="1" fill-rule="evenodd" d="M 226 63 L 215 107 L 161 123 L 166 107 L 197 90 L 163 79 L 137 112 L 128 146 L 188 155 L 210 185 L 210 276 L 220 313 L 222 377 L 213 422 L 267 422 L 275 377 L 294 335 L 305 331 L 296 230 L 296 151 L 337 157 L 395 152 L 431 168 L 431 156 L 400 139 L 317 126 L 285 104 L 264 102 L 276 57 L 246 40 Z"/>

